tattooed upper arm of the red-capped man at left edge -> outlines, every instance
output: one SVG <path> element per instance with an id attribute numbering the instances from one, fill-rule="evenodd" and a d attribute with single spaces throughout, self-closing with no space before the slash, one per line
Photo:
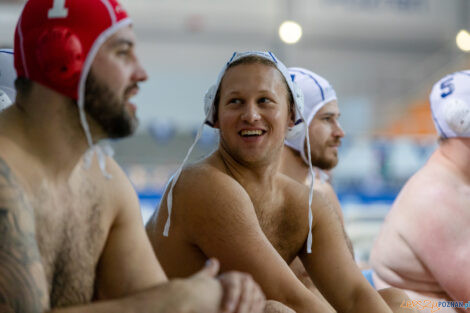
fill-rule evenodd
<path id="1" fill-rule="evenodd" d="M 0 312 L 36 313 L 48 308 L 34 210 L 0 158 Z"/>

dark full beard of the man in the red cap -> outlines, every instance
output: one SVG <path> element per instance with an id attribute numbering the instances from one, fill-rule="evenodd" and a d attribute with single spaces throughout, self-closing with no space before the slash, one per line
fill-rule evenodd
<path id="1" fill-rule="evenodd" d="M 126 88 L 124 95 L 135 87 L 132 85 Z M 85 111 L 101 126 L 108 138 L 129 136 L 138 126 L 137 118 L 126 110 L 124 95 L 118 98 L 118 95 L 98 81 L 93 74 L 88 75 Z"/>

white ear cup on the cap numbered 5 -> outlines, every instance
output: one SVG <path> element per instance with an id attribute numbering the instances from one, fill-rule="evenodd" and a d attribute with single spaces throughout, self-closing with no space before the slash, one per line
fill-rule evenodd
<path id="1" fill-rule="evenodd" d="M 468 136 L 470 131 L 470 106 L 461 99 L 449 99 L 443 107 L 444 119 L 458 136 Z"/>

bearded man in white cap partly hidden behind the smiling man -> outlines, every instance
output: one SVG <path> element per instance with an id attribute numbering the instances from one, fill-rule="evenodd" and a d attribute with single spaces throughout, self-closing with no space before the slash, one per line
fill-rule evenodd
<path id="1" fill-rule="evenodd" d="M 282 151 L 281 173 L 306 186 L 310 185 L 306 138 L 305 132 L 302 131 L 304 127 L 308 127 L 311 162 L 316 170 L 314 188 L 321 190 L 330 202 L 335 203 L 334 208 L 343 224 L 343 212 L 338 197 L 331 185 L 326 182 L 326 173 L 323 172 L 331 170 L 338 164 L 338 147 L 341 138 L 344 137 L 344 131 L 338 122 L 340 111 L 336 93 L 326 79 L 307 69 L 289 68 L 289 73 L 304 94 L 303 116 L 306 123 L 297 125 L 296 127 L 300 129 L 296 135 L 286 139 Z M 346 232 L 345 237 L 353 253 Z M 313 292 L 318 292 L 299 258 L 295 258 L 290 267 L 305 286 Z"/>

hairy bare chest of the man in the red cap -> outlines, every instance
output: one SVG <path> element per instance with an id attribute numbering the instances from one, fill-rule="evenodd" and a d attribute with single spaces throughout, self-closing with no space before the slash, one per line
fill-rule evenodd
<path id="1" fill-rule="evenodd" d="M 101 198 L 87 188 L 76 193 L 43 193 L 34 202 L 51 306 L 89 302 L 107 233 Z"/>

